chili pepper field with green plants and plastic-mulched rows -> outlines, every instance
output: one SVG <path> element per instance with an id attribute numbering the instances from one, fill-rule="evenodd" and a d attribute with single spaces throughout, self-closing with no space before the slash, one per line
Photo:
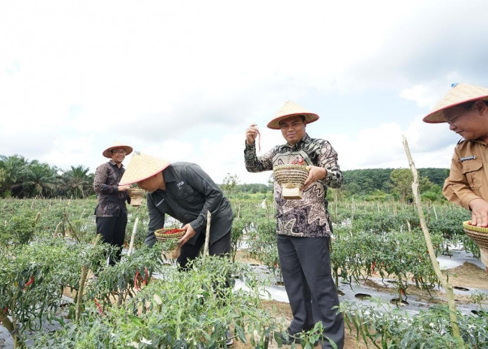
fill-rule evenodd
<path id="1" fill-rule="evenodd" d="M 235 214 L 230 260 L 201 258 L 187 273 L 164 263 L 169 244 L 143 246 L 144 205 L 129 208 L 126 239 L 129 245 L 135 232 L 133 253 L 125 251 L 119 265 L 104 268 L 110 251 L 94 239 L 93 198 L 0 200 L 0 348 L 23 343 L 32 348 L 47 343 L 52 348 L 197 348 L 196 343 L 215 348 L 223 346 L 227 327 L 236 336 L 234 348 L 277 348 L 266 338 L 286 328 L 291 311 L 277 282 L 273 207 L 263 203 L 272 198 L 269 193 L 230 198 Z M 351 327 L 345 348 L 366 348 L 365 342 L 381 348 L 382 342 L 395 346 L 402 340 L 428 342 L 429 348 L 458 345 L 413 206 L 344 200 L 330 202 L 329 209 L 333 276 Z M 427 203 L 425 216 L 441 267 L 457 288 L 464 343 L 483 348 L 488 276 L 462 230 L 468 214 L 454 205 Z M 98 270 L 96 279 L 93 270 Z M 234 292 L 219 289 L 222 294 L 215 297 L 215 285 L 229 282 L 229 275 Z M 56 331 L 46 330 L 49 322 Z M 304 347 L 317 333 L 304 334 Z"/>

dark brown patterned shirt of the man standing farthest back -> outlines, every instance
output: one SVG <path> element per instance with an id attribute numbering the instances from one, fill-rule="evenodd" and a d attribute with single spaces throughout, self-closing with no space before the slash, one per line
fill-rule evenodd
<path id="1" fill-rule="evenodd" d="M 119 168 L 114 161 L 98 166 L 93 179 L 93 189 L 97 193 L 97 217 L 119 217 L 127 215 L 125 201 L 129 201 L 127 191 L 119 191 L 125 168 Z"/>

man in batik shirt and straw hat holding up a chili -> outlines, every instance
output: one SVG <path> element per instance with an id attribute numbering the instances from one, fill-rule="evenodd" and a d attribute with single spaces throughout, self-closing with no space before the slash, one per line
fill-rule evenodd
<path id="1" fill-rule="evenodd" d="M 334 306 L 339 305 L 337 289 L 330 272 L 330 234 L 332 224 L 326 200 L 327 188 L 342 185 L 337 153 L 326 140 L 310 138 L 305 127 L 319 116 L 289 102 L 268 128 L 280 129 L 287 142 L 256 155 L 256 124 L 246 130 L 245 166 L 249 172 L 273 170 L 277 165 L 303 163 L 309 169 L 303 186 L 303 198 L 284 200 L 282 188 L 275 182 L 277 211 L 277 248 L 293 320 L 287 334 L 277 334 L 283 343 L 298 343 L 299 333 L 321 321 L 323 348 L 344 346 L 344 320 Z M 327 337 L 327 338 L 325 338 Z"/>

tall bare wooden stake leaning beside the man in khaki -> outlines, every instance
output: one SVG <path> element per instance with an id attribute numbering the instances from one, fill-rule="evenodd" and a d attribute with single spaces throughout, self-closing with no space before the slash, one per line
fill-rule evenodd
<path id="1" fill-rule="evenodd" d="M 459 327 L 457 326 L 457 309 L 456 303 L 454 300 L 454 291 L 452 290 L 452 286 L 448 282 L 448 280 L 443 276 L 441 272 L 441 268 L 439 267 L 439 262 L 436 260 L 436 255 L 434 253 L 434 247 L 432 246 L 432 240 L 430 239 L 429 230 L 427 229 L 427 224 L 425 223 L 425 216 L 424 212 L 422 211 L 422 206 L 420 205 L 420 192 L 418 190 L 418 172 L 415 168 L 415 164 L 413 163 L 412 156 L 410 154 L 409 144 L 406 142 L 405 136 L 403 136 L 403 145 L 406 152 L 406 157 L 409 158 L 409 165 L 410 169 L 413 174 L 413 183 L 412 183 L 412 192 L 413 198 L 415 198 L 415 207 L 417 208 L 418 216 L 420 218 L 420 225 L 422 227 L 422 232 L 424 232 L 425 242 L 427 242 L 427 249 L 429 251 L 430 260 L 432 262 L 432 266 L 434 267 L 434 271 L 436 272 L 436 276 L 441 281 L 443 288 L 445 288 L 445 295 L 448 299 L 449 310 L 450 310 L 450 320 L 452 326 L 452 335 L 462 343 L 464 347 L 464 342 L 459 332 Z"/>

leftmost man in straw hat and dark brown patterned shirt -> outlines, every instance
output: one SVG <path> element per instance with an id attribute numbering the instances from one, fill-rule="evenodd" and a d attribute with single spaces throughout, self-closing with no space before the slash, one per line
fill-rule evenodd
<path id="1" fill-rule="evenodd" d="M 125 240 L 125 227 L 127 226 L 126 201 L 130 201 L 127 189 L 130 185 L 119 186 L 122 178 L 122 161 L 125 155 L 132 152 L 132 147 L 114 142 L 102 152 L 110 161 L 98 166 L 93 179 L 93 189 L 97 193 L 96 225 L 97 234 L 102 236 L 102 242 L 116 246 L 115 258 L 109 259 L 114 265 L 121 259 L 122 246 Z"/>

